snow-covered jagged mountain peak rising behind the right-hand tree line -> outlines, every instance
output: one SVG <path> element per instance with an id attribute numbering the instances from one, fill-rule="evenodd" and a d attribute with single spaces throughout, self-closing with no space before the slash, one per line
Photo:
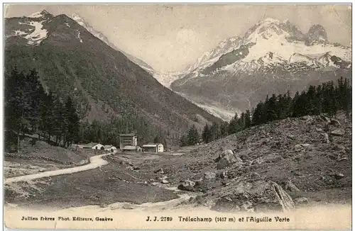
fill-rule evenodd
<path id="1" fill-rule="evenodd" d="M 304 34 L 290 21 L 266 18 L 243 38 L 228 39 L 202 55 L 171 88 L 205 108 L 233 114 L 253 108 L 266 95 L 351 78 L 351 69 L 351 47 L 329 44 L 322 26 Z"/>

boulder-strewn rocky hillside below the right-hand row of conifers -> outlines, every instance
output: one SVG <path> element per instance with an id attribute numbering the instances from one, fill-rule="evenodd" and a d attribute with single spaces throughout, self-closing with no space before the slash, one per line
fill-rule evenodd
<path id="1" fill-rule="evenodd" d="M 351 118 L 305 116 L 259 125 L 139 167 L 182 190 L 202 192 L 191 201 L 196 206 L 285 211 L 351 203 L 351 150 Z"/>

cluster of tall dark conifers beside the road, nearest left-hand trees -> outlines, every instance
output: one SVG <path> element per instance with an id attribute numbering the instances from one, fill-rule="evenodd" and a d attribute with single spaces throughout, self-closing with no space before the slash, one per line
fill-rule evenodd
<path id="1" fill-rule="evenodd" d="M 4 109 L 6 151 L 19 151 L 26 134 L 62 147 L 79 138 L 80 118 L 72 98 L 45 92 L 35 70 L 5 72 Z"/>

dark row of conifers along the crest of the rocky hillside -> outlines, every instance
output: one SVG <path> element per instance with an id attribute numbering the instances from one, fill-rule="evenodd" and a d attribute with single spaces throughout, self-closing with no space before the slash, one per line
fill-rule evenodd
<path id="1" fill-rule="evenodd" d="M 346 116 L 349 116 L 351 99 L 351 83 L 343 77 L 337 80 L 337 84 L 328 81 L 318 86 L 311 85 L 307 91 L 297 91 L 293 98 L 289 92 L 278 96 L 273 94 L 270 98 L 267 96 L 265 101 L 259 102 L 252 111 L 246 110 L 241 116 L 236 114 L 229 123 L 205 125 L 201 137 L 207 143 L 251 126 L 291 117 L 321 113 L 333 117 L 337 115 L 337 111 L 344 111 Z M 181 146 L 195 145 L 197 142 L 200 142 L 200 134 L 193 126 L 180 137 Z"/>

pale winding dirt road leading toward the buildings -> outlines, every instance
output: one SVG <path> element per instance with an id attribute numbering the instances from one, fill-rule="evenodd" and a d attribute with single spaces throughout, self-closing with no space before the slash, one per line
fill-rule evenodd
<path id="1" fill-rule="evenodd" d="M 33 179 L 38 179 L 38 178 L 43 178 L 43 177 L 48 177 L 48 176 L 73 174 L 73 173 L 79 172 L 79 171 L 87 171 L 90 169 L 96 169 L 97 167 L 102 167 L 102 166 L 109 163 L 106 160 L 102 159 L 102 157 L 107 156 L 108 154 L 111 154 L 111 153 L 100 154 L 98 156 L 90 157 L 90 163 L 82 165 L 80 167 L 73 167 L 73 168 L 69 168 L 69 169 L 58 169 L 58 170 L 53 170 L 53 171 L 44 171 L 44 172 L 41 172 L 38 174 L 11 177 L 11 178 L 5 179 L 5 184 L 10 184 L 13 182 L 18 182 L 18 181 L 30 181 Z"/>

